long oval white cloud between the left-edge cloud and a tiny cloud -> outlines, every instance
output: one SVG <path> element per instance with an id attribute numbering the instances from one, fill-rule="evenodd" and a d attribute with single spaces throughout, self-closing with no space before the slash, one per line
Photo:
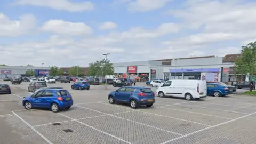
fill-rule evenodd
<path id="1" fill-rule="evenodd" d="M 63 20 L 49 20 L 41 27 L 42 31 L 49 31 L 62 35 L 88 35 L 93 33 L 93 29 L 83 22 L 68 22 Z"/>

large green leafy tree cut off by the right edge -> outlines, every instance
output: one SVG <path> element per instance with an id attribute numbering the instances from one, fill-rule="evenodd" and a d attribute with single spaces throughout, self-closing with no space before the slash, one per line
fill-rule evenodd
<path id="1" fill-rule="evenodd" d="M 256 42 L 242 46 L 242 56 L 235 61 L 235 75 L 256 74 Z"/>

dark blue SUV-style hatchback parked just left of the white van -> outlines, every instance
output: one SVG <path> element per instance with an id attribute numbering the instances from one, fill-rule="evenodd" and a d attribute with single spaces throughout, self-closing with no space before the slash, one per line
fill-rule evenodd
<path id="1" fill-rule="evenodd" d="M 108 94 L 108 100 L 111 104 L 130 103 L 132 108 L 137 108 L 139 105 L 151 107 L 156 102 L 155 93 L 150 88 L 142 86 L 124 86 L 111 91 Z"/>

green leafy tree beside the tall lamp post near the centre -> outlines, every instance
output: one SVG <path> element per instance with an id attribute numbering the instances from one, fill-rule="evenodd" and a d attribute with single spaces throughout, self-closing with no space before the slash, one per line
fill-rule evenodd
<path id="1" fill-rule="evenodd" d="M 93 63 L 89 63 L 89 69 L 87 71 L 87 75 L 89 76 L 105 76 L 107 68 L 107 75 L 114 75 L 114 67 L 113 63 L 107 59 L 102 59 L 100 61 L 95 61 Z"/>

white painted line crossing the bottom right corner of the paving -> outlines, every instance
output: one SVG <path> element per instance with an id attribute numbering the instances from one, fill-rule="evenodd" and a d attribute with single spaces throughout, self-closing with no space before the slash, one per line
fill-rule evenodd
<path id="1" fill-rule="evenodd" d="M 252 113 L 252 114 L 245 115 L 245 116 L 241 116 L 241 117 L 238 117 L 238 118 L 235 118 L 235 119 L 232 119 L 232 120 L 230 120 L 230 121 L 223 122 L 223 123 L 220 123 L 220 124 L 217 124 L 217 125 L 209 126 L 209 127 L 206 127 L 206 128 L 204 128 L 204 129 L 202 129 L 202 130 L 198 130 L 198 131 L 195 131 L 195 132 L 191 132 L 191 133 L 182 135 L 181 137 L 174 138 L 174 139 L 171 139 L 171 140 L 162 142 L 161 144 L 166 144 L 166 143 L 170 143 L 170 142 L 172 142 L 172 141 L 178 140 L 178 139 L 186 138 L 186 137 L 188 137 L 189 135 L 192 135 L 192 134 L 195 134 L 195 133 L 198 133 L 198 132 L 202 132 L 202 131 L 205 131 L 205 130 L 208 130 L 208 129 L 211 129 L 211 128 L 213 128 L 213 127 L 217 127 L 217 126 L 220 126 L 220 125 L 223 125 L 223 124 L 227 124 L 227 123 L 230 123 L 230 122 L 234 122 L 234 121 L 237 121 L 238 119 L 241 119 L 241 118 L 244 118 L 244 117 L 253 115 L 253 114 L 256 114 L 256 112 L 255 112 L 255 113 Z"/>

